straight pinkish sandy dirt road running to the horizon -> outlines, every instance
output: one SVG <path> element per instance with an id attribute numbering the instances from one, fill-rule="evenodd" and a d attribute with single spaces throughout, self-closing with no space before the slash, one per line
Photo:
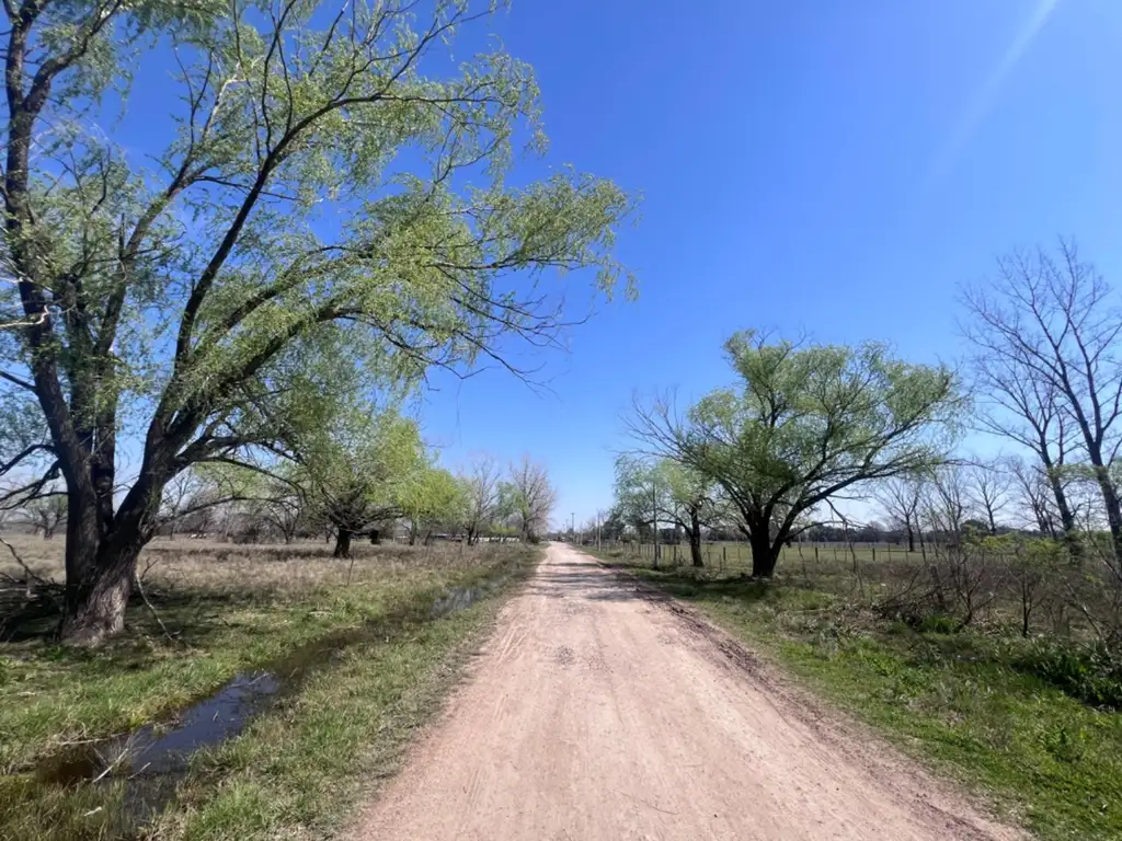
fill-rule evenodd
<path id="1" fill-rule="evenodd" d="M 674 602 L 552 545 L 355 837 L 1012 839 Z"/>

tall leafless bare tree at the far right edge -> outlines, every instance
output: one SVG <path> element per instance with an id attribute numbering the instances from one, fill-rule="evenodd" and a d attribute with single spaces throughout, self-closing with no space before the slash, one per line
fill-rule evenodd
<path id="1" fill-rule="evenodd" d="M 1111 473 L 1122 446 L 1122 317 L 1111 287 L 1061 240 L 1055 256 L 1038 249 L 1002 258 L 993 281 L 968 289 L 965 303 L 977 383 L 999 409 L 987 414 L 988 428 L 1040 458 L 1065 533 L 1074 516 L 1060 478 L 1077 443 L 1122 562 L 1122 503 Z"/>

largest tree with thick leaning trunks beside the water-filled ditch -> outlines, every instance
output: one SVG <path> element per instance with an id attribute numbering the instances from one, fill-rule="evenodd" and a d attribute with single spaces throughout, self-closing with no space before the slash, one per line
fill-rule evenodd
<path id="1" fill-rule="evenodd" d="M 123 627 L 166 483 L 270 446 L 319 343 L 470 364 L 562 326 L 543 272 L 619 279 L 623 192 L 507 178 L 545 147 L 531 68 L 448 61 L 493 6 L 6 0 L 0 381 L 42 434 L 3 466 L 65 481 L 65 640 Z M 169 141 L 118 142 L 129 81 L 168 66 Z"/>

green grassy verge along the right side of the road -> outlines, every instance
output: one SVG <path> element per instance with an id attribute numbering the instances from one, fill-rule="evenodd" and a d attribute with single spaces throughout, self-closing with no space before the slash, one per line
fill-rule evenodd
<path id="1" fill-rule="evenodd" d="M 807 582 L 601 557 L 691 602 L 1039 837 L 1122 838 L 1122 713 L 1026 674 L 1028 644 L 1002 629 L 920 631 Z"/>

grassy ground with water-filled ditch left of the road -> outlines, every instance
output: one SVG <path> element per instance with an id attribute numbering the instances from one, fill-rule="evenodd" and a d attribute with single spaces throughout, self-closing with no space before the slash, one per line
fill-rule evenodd
<path id="1" fill-rule="evenodd" d="M 320 547 L 164 551 L 148 590 L 176 641 L 140 604 L 103 651 L 0 645 L 0 838 L 329 834 L 393 769 L 500 602 L 438 620 L 433 600 L 511 586 L 536 560 L 514 546 L 362 547 L 349 571 Z M 37 770 L 66 746 L 166 720 L 258 668 L 277 675 L 275 702 L 239 738 L 196 754 L 142 822 L 125 779 L 64 786 Z"/>

